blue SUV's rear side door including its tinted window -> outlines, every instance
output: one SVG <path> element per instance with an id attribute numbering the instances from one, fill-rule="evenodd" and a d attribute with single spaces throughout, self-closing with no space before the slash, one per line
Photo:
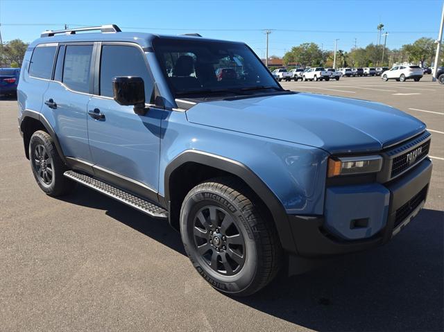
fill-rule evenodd
<path id="1" fill-rule="evenodd" d="M 44 116 L 54 123 L 64 155 L 89 163 L 87 103 L 92 91 L 93 49 L 94 43 L 59 45 L 42 107 Z"/>

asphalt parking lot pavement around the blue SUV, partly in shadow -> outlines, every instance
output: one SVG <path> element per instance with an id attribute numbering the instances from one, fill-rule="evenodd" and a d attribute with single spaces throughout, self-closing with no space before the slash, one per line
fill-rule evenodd
<path id="1" fill-rule="evenodd" d="M 44 195 L 24 157 L 17 102 L 0 99 L 0 331 L 443 331 L 444 86 L 430 80 L 282 82 L 427 123 L 432 186 L 391 243 L 281 274 L 243 299 L 208 286 L 167 223 L 81 186 Z"/>

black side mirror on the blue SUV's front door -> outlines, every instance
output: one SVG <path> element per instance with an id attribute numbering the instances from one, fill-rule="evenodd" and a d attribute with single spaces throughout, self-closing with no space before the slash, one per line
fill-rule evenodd
<path id="1" fill-rule="evenodd" d="M 135 114 L 145 115 L 145 85 L 139 76 L 116 76 L 112 78 L 114 101 L 119 105 L 134 105 Z"/>

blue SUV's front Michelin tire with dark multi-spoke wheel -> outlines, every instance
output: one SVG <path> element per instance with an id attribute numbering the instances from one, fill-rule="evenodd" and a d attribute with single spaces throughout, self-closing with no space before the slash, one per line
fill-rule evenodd
<path id="1" fill-rule="evenodd" d="M 273 221 L 248 197 L 244 184 L 220 177 L 191 189 L 180 209 L 180 233 L 194 268 L 216 290 L 236 296 L 266 286 L 282 259 Z"/>

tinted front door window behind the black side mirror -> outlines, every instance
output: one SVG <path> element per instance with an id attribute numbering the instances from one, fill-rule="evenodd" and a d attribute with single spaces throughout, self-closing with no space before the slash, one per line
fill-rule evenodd
<path id="1" fill-rule="evenodd" d="M 115 76 L 142 77 L 145 85 L 145 99 L 146 101 L 151 99 L 153 80 L 146 67 L 142 51 L 135 46 L 104 45 L 102 47 L 100 67 L 101 96 L 114 96 L 112 78 Z"/>

